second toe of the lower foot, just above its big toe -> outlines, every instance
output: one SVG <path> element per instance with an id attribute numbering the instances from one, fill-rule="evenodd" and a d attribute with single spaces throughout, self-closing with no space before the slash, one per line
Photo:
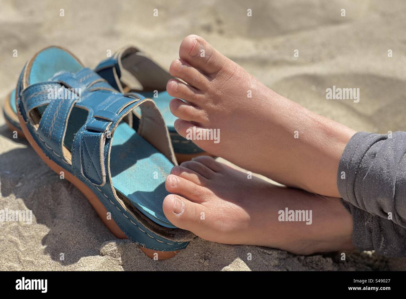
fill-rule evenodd
<path id="1" fill-rule="evenodd" d="M 165 181 L 165 188 L 168 192 L 185 196 L 190 201 L 197 203 L 205 201 L 210 195 L 207 188 L 176 175 L 168 175 Z"/>

